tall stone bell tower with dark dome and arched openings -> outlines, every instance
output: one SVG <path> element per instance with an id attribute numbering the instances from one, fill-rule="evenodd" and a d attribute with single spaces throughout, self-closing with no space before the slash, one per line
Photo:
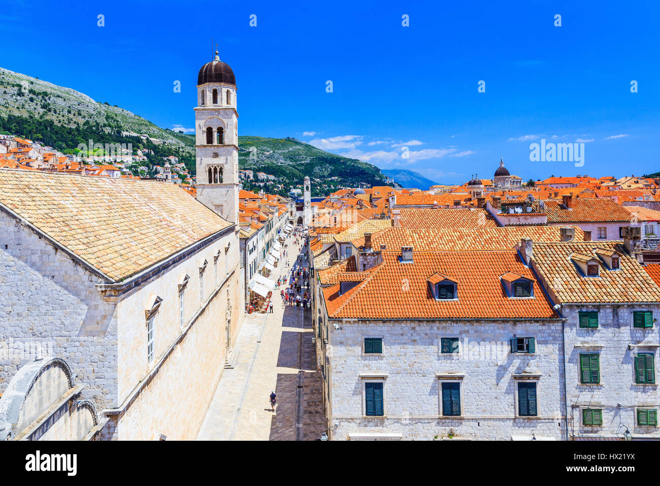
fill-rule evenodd
<path id="1" fill-rule="evenodd" d="M 197 200 L 238 225 L 236 77 L 218 51 L 197 76 L 195 157 Z"/>

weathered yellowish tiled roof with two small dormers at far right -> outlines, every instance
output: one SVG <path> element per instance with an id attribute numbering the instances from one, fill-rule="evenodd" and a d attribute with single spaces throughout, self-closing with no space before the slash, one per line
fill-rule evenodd
<path id="1" fill-rule="evenodd" d="M 597 249 L 620 254 L 620 270 L 609 270 L 601 263 L 598 277 L 585 277 L 571 259 L 597 259 Z M 660 287 L 644 267 L 616 241 L 583 243 L 533 243 L 535 267 L 560 302 L 660 302 Z"/>

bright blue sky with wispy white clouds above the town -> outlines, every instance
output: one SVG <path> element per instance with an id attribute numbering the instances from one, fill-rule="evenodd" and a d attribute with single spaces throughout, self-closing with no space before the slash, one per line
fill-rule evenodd
<path id="1" fill-rule="evenodd" d="M 445 183 L 490 178 L 500 157 L 525 180 L 660 171 L 660 3 L 498 4 L 19 0 L 0 13 L 0 65 L 186 129 L 213 38 L 236 74 L 240 135 Z M 583 141 L 583 167 L 531 162 L 542 138 Z"/>

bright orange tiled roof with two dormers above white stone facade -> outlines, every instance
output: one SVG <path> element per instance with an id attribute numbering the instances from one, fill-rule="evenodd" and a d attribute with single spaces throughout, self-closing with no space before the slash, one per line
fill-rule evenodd
<path id="1" fill-rule="evenodd" d="M 515 272 L 536 280 L 517 252 L 434 251 L 413 252 L 413 263 L 399 263 L 395 253 L 384 253 L 363 282 L 339 295 L 339 284 L 325 288 L 329 317 L 335 319 L 552 319 L 552 305 L 539 288 L 534 298 L 508 298 L 500 280 Z M 428 278 L 440 272 L 451 275 L 458 299 L 435 300 Z"/>

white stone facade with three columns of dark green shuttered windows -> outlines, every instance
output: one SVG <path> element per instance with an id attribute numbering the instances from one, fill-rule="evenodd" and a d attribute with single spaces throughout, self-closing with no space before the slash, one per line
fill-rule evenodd
<path id="1" fill-rule="evenodd" d="M 331 376 L 328 410 L 333 440 L 349 434 L 400 433 L 404 440 L 447 437 L 511 440 L 512 436 L 564 438 L 563 375 L 559 356 L 560 321 L 341 322 L 328 326 Z M 535 337 L 535 354 L 511 354 L 510 339 Z M 440 354 L 441 337 L 460 337 L 461 354 Z M 382 337 L 383 354 L 362 353 L 365 337 Z M 467 339 L 467 341 L 465 341 Z M 467 343 L 467 344 L 466 344 Z M 442 417 L 436 374 L 465 374 L 461 385 L 463 417 Z M 540 374 L 538 417 L 516 417 L 512 374 Z M 361 374 L 384 379 L 385 418 L 362 416 Z"/>

